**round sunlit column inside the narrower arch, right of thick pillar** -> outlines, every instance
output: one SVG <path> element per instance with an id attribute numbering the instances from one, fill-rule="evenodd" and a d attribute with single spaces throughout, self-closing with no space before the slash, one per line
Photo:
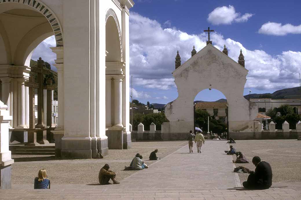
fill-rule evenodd
<path id="1" fill-rule="evenodd" d="M 122 78 L 116 76 L 114 78 L 114 126 L 123 127 L 122 125 Z"/>

